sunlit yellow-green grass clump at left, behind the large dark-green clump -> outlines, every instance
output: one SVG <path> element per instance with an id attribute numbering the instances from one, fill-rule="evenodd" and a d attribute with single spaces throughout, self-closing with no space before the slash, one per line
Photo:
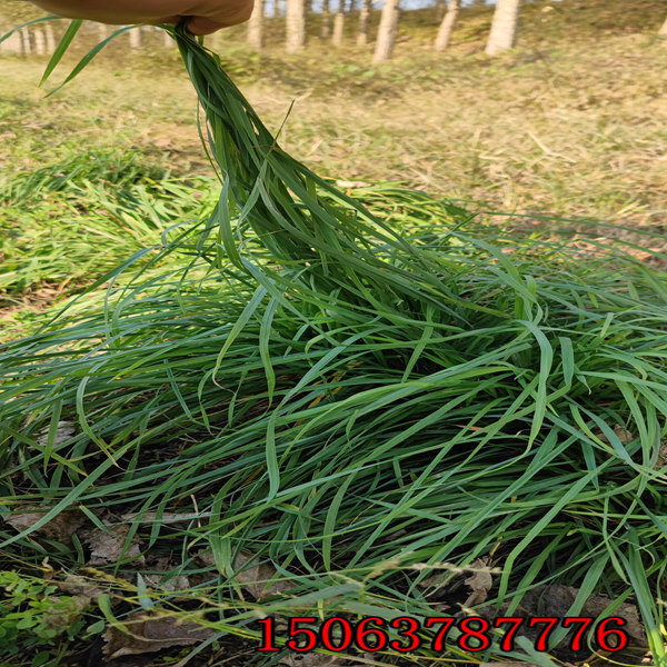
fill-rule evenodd
<path id="1" fill-rule="evenodd" d="M 177 179 L 137 157 L 68 155 L 0 181 L 0 303 L 43 285 L 81 289 L 215 202 L 211 179 Z"/>

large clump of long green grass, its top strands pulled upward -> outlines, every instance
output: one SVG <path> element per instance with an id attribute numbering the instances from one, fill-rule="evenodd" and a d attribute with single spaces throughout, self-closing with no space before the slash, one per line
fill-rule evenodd
<path id="1" fill-rule="evenodd" d="M 568 616 L 593 594 L 605 616 L 636 605 L 664 661 L 665 273 L 623 243 L 583 260 L 421 192 L 354 199 L 175 37 L 219 205 L 165 232 L 153 261 L 179 270 L 142 268 L 104 307 L 3 346 L 6 511 L 46 508 L 2 530 L 8 561 L 80 567 L 80 542 L 40 532 L 66 510 L 125 522 L 147 565 L 112 571 L 168 555 L 169 578 L 197 585 L 142 595 L 250 639 L 261 614 L 459 614 L 466 568 L 486 564 L 472 613 L 520 616 L 528 591 L 565 584 Z M 429 657 L 470 658 L 456 633 L 409 659 Z M 492 657 L 552 664 L 528 643 L 476 659 Z"/>

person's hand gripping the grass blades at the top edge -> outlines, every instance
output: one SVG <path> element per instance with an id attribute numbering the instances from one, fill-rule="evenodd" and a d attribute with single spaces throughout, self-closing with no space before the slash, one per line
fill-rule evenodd
<path id="1" fill-rule="evenodd" d="M 100 23 L 186 23 L 192 34 L 210 34 L 250 18 L 252 0 L 31 0 L 59 17 Z"/>

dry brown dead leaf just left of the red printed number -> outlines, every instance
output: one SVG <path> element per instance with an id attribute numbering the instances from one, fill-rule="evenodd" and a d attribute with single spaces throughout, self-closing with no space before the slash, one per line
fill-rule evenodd
<path id="1" fill-rule="evenodd" d="M 111 626 L 103 635 L 104 656 L 112 660 L 121 656 L 153 653 L 172 646 L 192 646 L 212 637 L 216 631 L 190 620 L 178 618 L 153 618 L 148 611 L 135 611 L 122 619 L 131 633 Z"/>

